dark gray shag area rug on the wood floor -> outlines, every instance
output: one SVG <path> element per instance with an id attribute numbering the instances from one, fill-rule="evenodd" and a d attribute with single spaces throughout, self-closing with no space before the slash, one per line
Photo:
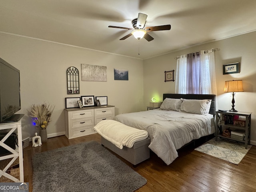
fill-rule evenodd
<path id="1" fill-rule="evenodd" d="M 133 192 L 147 180 L 96 141 L 32 157 L 33 192 Z"/>

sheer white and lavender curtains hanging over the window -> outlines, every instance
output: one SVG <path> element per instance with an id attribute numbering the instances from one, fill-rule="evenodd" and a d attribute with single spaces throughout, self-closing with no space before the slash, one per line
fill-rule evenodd
<path id="1" fill-rule="evenodd" d="M 177 58 L 175 93 L 216 94 L 214 49 Z"/>

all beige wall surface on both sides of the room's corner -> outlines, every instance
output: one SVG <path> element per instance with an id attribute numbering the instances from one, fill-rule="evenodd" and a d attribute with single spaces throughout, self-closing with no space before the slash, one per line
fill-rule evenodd
<path id="1" fill-rule="evenodd" d="M 175 57 L 198 50 L 220 48 L 216 52 L 216 77 L 218 108 L 230 109 L 230 93 L 223 93 L 225 80 L 243 80 L 244 92 L 235 97 L 238 111 L 252 112 L 252 144 L 256 144 L 256 32 L 243 34 L 208 44 L 172 52 L 147 60 L 139 60 L 114 54 L 76 48 L 30 38 L 0 34 L 0 57 L 21 72 L 21 104 L 26 116 L 22 120 L 22 130 L 30 136 L 34 127 L 28 117 L 32 104 L 49 102 L 55 104 L 48 136 L 64 134 L 64 108 L 66 97 L 83 95 L 108 96 L 108 104 L 115 105 L 115 114 L 145 110 L 150 99 L 155 96 L 162 100 L 163 93 L 175 92 L 175 81 L 164 82 L 164 71 L 175 70 Z M 223 75 L 222 65 L 240 62 L 239 74 Z M 81 72 L 81 64 L 107 66 L 107 82 L 81 81 L 80 94 L 66 94 L 66 69 L 75 66 Z M 114 80 L 114 68 L 129 70 L 128 81 Z M 174 75 L 174 78 L 176 75 Z"/>

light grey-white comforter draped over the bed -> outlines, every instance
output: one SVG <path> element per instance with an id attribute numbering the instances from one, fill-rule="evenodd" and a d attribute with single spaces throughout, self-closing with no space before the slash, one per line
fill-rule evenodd
<path id="1" fill-rule="evenodd" d="M 146 130 L 148 146 L 167 165 L 177 157 L 177 149 L 188 142 L 214 133 L 213 115 L 198 115 L 160 109 L 120 114 L 114 117 L 128 126 Z"/>

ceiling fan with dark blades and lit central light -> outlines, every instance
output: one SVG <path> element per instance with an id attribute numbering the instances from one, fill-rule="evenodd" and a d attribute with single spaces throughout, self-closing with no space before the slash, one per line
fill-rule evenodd
<path id="1" fill-rule="evenodd" d="M 132 30 L 132 32 L 130 34 L 124 36 L 120 40 L 125 40 L 126 38 L 133 35 L 138 40 L 140 40 L 141 38 L 144 37 L 147 41 L 152 41 L 154 39 L 152 36 L 150 36 L 148 34 L 148 32 L 150 32 L 150 31 L 163 31 L 163 30 L 170 30 L 171 29 L 171 25 L 145 27 L 147 17 L 148 17 L 148 15 L 143 14 L 143 13 L 139 13 L 138 18 L 132 20 L 133 28 L 118 27 L 118 26 L 108 26 L 108 27 Z"/>

